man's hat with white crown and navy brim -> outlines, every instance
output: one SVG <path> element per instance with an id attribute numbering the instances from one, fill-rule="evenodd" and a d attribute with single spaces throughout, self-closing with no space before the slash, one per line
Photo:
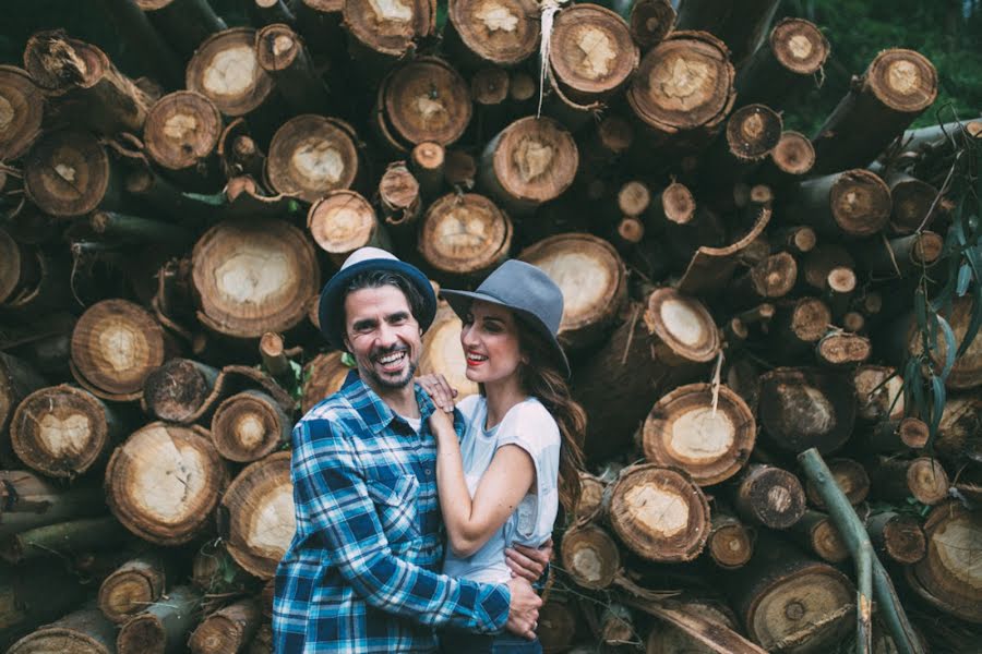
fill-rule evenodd
<path id="1" fill-rule="evenodd" d="M 423 331 L 433 324 L 433 317 L 436 315 L 436 294 L 429 278 L 419 268 L 399 261 L 391 252 L 379 247 L 359 247 L 345 259 L 340 270 L 324 284 L 318 305 L 321 334 L 338 350 L 345 349 L 344 328 L 334 318 L 344 312 L 343 303 L 348 284 L 361 272 L 370 270 L 388 270 L 405 277 L 422 296 L 419 315 L 414 316 L 416 322 Z"/>

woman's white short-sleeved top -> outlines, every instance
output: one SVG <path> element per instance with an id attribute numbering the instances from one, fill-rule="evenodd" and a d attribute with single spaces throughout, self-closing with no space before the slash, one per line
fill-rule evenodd
<path id="1" fill-rule="evenodd" d="M 535 398 L 508 410 L 491 429 L 484 429 L 488 403 L 481 396 L 470 396 L 457 404 L 467 431 L 460 439 L 464 477 L 474 497 L 478 483 L 491 464 L 494 452 L 504 445 L 517 445 L 529 453 L 536 467 L 536 493 L 527 494 L 505 523 L 469 557 L 457 557 L 446 547 L 443 572 L 451 577 L 486 583 L 503 583 L 511 579 L 505 565 L 505 547 L 538 547 L 552 535 L 559 511 L 560 432 L 549 411 Z"/>

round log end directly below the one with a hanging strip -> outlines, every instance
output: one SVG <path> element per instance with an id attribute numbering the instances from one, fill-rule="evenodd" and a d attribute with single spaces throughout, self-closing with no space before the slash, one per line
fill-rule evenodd
<path id="1" fill-rule="evenodd" d="M 684 473 L 645 463 L 621 471 L 609 491 L 618 537 L 649 561 L 691 561 L 709 536 L 709 505 Z"/>

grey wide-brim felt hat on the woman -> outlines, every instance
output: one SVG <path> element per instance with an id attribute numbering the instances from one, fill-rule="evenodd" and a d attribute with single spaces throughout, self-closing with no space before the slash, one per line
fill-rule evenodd
<path id="1" fill-rule="evenodd" d="M 549 343 L 552 359 L 566 377 L 570 362 L 556 340 L 563 319 L 563 292 L 541 268 L 508 259 L 499 266 L 475 291 L 443 289 L 440 295 L 463 319 L 475 300 L 490 302 L 515 312 L 523 324 L 535 329 Z"/>

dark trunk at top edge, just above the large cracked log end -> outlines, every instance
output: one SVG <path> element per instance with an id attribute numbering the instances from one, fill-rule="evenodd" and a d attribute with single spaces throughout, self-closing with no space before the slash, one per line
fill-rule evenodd
<path id="1" fill-rule="evenodd" d="M 712 2 L 682 0 L 679 3 L 676 29 L 704 29 L 719 37 L 732 52 L 739 66 L 764 41 L 779 0 L 754 2 Z"/>

